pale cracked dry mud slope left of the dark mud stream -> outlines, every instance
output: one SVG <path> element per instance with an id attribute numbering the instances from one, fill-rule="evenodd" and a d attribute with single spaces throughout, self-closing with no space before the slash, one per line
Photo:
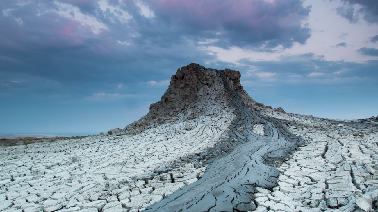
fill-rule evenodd
<path id="1" fill-rule="evenodd" d="M 194 182 L 206 170 L 186 161 L 168 176 L 154 172 L 214 146 L 234 117 L 226 106 L 203 107 L 218 117 L 183 117 L 132 137 L 97 136 L 1 148 L 0 210 L 143 209 Z M 186 130 L 186 124 L 193 129 Z M 153 179 L 138 180 L 146 176 Z"/>

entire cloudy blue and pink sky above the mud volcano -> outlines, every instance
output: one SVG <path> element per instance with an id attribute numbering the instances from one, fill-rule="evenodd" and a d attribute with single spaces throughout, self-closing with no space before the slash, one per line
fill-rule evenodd
<path id="1" fill-rule="evenodd" d="M 0 28 L 0 134 L 123 128 L 190 63 L 287 112 L 378 115 L 378 1 L 12 0 Z"/>

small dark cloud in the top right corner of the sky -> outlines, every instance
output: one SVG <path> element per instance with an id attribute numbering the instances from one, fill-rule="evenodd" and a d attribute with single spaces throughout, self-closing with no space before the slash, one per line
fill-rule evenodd
<path id="1" fill-rule="evenodd" d="M 338 14 L 347 18 L 350 23 L 356 23 L 361 15 L 368 23 L 378 23 L 378 1 L 376 0 L 342 0 L 345 5 L 336 9 Z M 355 10 L 353 5 L 358 4 L 360 9 Z"/>

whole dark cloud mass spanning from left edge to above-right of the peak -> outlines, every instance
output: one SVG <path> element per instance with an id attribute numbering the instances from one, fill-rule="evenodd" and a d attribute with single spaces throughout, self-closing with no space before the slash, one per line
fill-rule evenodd
<path id="1" fill-rule="evenodd" d="M 4 80 L 24 74 L 59 82 L 51 88 L 56 92 L 88 93 L 107 84 L 167 80 L 178 67 L 214 59 L 198 50 L 206 45 L 270 51 L 310 37 L 301 26 L 310 6 L 297 0 L 144 2 L 153 17 L 131 0 L 107 4 L 103 10 L 90 0 L 1 2 Z M 46 89 L 40 84 L 29 86 Z M 79 90 L 75 95 L 83 95 Z"/>

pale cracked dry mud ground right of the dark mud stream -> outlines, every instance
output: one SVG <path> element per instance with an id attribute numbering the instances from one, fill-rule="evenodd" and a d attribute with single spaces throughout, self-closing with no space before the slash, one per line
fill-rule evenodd
<path id="1" fill-rule="evenodd" d="M 257 188 L 255 211 L 376 211 L 377 124 L 265 114 L 291 123 L 288 129 L 307 146 L 277 168 L 276 187 Z"/>

